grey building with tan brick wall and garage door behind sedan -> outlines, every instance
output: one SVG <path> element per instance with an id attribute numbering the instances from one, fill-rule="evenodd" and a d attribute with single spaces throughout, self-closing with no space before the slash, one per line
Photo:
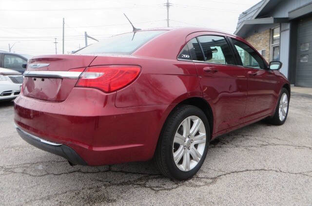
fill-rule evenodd
<path id="1" fill-rule="evenodd" d="M 261 0 L 239 15 L 234 34 L 281 61 L 291 84 L 312 87 L 312 0 Z"/>

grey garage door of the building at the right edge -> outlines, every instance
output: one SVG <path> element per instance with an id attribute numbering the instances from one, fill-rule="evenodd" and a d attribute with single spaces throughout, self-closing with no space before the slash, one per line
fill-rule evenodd
<path id="1" fill-rule="evenodd" d="M 312 87 L 312 17 L 298 25 L 296 86 Z"/>

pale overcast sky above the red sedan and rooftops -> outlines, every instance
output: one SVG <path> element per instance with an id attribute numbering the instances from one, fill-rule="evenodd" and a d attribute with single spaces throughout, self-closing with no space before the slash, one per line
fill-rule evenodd
<path id="1" fill-rule="evenodd" d="M 167 0 L 0 0 L 0 50 L 23 54 L 62 53 L 84 47 L 84 32 L 104 39 L 137 28 L 167 26 Z M 200 26 L 233 33 L 240 13 L 259 0 L 170 0 L 170 26 Z M 88 39 L 88 43 L 94 43 Z"/>

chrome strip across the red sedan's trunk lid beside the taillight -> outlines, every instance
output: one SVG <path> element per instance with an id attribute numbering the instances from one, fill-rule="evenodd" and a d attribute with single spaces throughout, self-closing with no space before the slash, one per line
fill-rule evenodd
<path id="1" fill-rule="evenodd" d="M 62 79 L 78 79 L 81 71 L 25 71 L 25 77 L 47 77 Z"/>

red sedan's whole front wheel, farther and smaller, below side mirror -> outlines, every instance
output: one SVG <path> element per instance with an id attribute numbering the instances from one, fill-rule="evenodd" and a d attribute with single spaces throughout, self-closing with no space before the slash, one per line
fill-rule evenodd
<path id="1" fill-rule="evenodd" d="M 289 108 L 289 92 L 286 88 L 281 89 L 278 102 L 275 108 L 274 116 L 268 119 L 268 122 L 273 125 L 282 125 L 285 123 Z"/>

